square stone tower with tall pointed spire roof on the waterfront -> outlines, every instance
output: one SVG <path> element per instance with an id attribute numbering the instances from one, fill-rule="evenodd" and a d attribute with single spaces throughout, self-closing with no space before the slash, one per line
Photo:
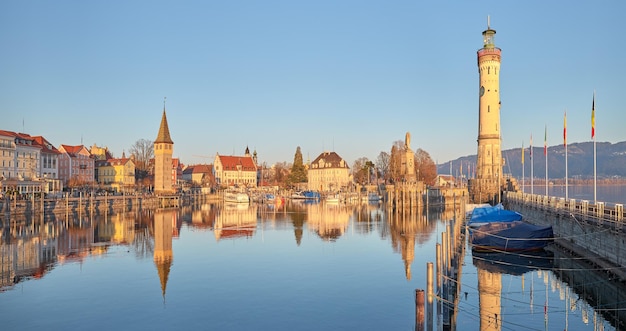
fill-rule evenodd
<path id="1" fill-rule="evenodd" d="M 154 141 L 154 193 L 168 195 L 174 193 L 172 188 L 172 154 L 174 142 L 170 137 L 170 129 L 167 126 L 165 115 L 165 101 L 163 101 L 163 117 L 159 134 Z"/>

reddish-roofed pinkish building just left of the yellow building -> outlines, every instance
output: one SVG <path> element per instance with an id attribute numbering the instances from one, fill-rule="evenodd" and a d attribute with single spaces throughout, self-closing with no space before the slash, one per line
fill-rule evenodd
<path id="1" fill-rule="evenodd" d="M 59 178 L 65 186 L 77 187 L 94 183 L 94 159 L 84 145 L 62 144 L 59 152 Z"/>

